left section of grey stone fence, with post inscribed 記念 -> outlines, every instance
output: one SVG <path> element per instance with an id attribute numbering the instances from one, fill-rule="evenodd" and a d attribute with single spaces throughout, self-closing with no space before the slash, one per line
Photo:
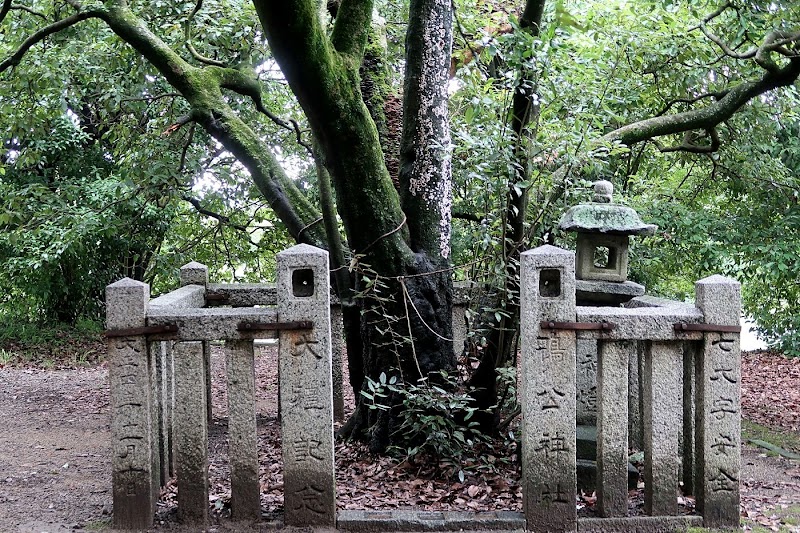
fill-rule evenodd
<path id="1" fill-rule="evenodd" d="M 181 269 L 180 289 L 152 301 L 144 283 L 107 287 L 115 528 L 149 528 L 172 475 L 181 521 L 207 522 L 208 343 L 219 340 L 228 345 L 231 510 L 261 518 L 253 340 L 276 333 L 285 522 L 335 524 L 328 254 L 298 245 L 278 254 L 277 268 L 276 307 L 238 307 L 263 295 L 235 289 L 234 307 L 206 307 L 197 263 Z"/>

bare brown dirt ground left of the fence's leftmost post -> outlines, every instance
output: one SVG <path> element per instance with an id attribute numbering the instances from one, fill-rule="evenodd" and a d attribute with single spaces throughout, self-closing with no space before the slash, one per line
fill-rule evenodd
<path id="1" fill-rule="evenodd" d="M 107 372 L 0 370 L 0 531 L 93 528 L 111 513 Z"/>

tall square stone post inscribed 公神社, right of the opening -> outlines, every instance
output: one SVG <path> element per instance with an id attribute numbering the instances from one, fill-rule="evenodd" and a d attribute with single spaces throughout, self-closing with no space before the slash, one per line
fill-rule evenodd
<path id="1" fill-rule="evenodd" d="M 522 254 L 522 491 L 526 529 L 575 531 L 575 255 L 553 246 Z"/>

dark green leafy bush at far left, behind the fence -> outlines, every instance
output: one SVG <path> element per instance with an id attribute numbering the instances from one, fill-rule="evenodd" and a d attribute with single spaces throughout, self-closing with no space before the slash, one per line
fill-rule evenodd
<path id="1" fill-rule="evenodd" d="M 66 117 L 21 146 L 0 176 L 4 313 L 99 318 L 105 286 L 122 275 L 141 279 L 169 223 L 169 210 L 137 192 Z"/>

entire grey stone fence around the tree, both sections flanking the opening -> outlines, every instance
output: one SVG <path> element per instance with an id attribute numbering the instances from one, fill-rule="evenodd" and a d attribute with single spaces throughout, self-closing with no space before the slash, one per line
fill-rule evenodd
<path id="1" fill-rule="evenodd" d="M 182 287 L 153 300 L 143 283 L 124 279 L 108 286 L 115 528 L 150 527 L 159 487 L 173 475 L 180 519 L 207 522 L 210 341 L 228 346 L 232 514 L 234 519 L 260 518 L 253 341 L 276 336 L 285 523 L 375 530 L 383 527 L 381 520 L 398 529 L 408 518 L 408 513 L 391 512 L 337 515 L 333 346 L 341 334 L 331 335 L 336 307 L 331 306 L 328 256 L 298 245 L 278 254 L 277 270 L 274 287 L 219 285 L 208 283 L 205 267 L 190 263 L 181 269 Z M 465 523 L 476 529 L 532 531 L 737 527 L 738 283 L 720 276 L 697 282 L 696 306 L 600 308 L 576 305 L 572 252 L 551 246 L 525 252 L 521 274 L 524 515 L 495 513 L 493 521 L 486 521 L 482 515 L 465 518 L 461 513 L 454 525 L 446 513 L 434 513 L 413 527 L 428 529 L 440 518 L 440 529 Z M 267 305 L 271 302 L 275 306 Z M 579 340 L 597 345 L 602 518 L 579 519 L 575 506 Z M 648 516 L 629 517 L 628 376 L 629 365 L 639 358 L 637 416 L 643 420 Z M 678 516 L 681 478 L 684 486 L 694 488 L 699 516 Z"/>

